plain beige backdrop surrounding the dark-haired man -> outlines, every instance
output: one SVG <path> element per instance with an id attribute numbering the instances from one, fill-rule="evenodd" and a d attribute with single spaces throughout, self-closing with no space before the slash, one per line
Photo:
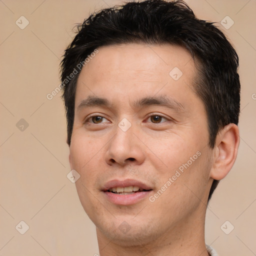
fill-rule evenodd
<path id="1" fill-rule="evenodd" d="M 239 153 L 210 201 L 206 242 L 220 256 L 256 255 L 256 1 L 186 2 L 201 19 L 231 17 L 229 29 L 219 27 L 240 57 Z M 0 256 L 98 253 L 94 224 L 66 177 L 70 169 L 60 93 L 51 100 L 46 94 L 59 84 L 58 64 L 74 24 L 116 3 L 0 0 Z M 24 29 L 15 24 L 21 15 L 29 21 Z M 16 127 L 21 118 L 29 124 L 23 131 Z M 21 220 L 29 226 L 23 235 L 15 229 Z M 234 226 L 229 234 L 220 228 L 226 220 Z"/>

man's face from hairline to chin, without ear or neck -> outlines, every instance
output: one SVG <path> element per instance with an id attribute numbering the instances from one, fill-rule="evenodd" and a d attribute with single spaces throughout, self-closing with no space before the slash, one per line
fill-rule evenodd
<path id="1" fill-rule="evenodd" d="M 203 222 L 212 150 L 196 75 L 190 54 L 169 44 L 99 47 L 82 68 L 69 160 L 105 237 L 140 244 Z"/>

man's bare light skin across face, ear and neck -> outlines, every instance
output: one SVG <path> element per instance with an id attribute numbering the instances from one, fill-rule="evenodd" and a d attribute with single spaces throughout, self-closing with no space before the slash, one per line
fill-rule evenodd
<path id="1" fill-rule="evenodd" d="M 183 73 L 178 80 L 169 75 L 173 67 Z M 76 189 L 96 225 L 101 256 L 208 255 L 204 219 L 209 189 L 213 178 L 223 178 L 232 167 L 239 135 L 237 126 L 228 124 L 209 148 L 205 107 L 193 90 L 196 75 L 189 52 L 169 44 L 102 46 L 82 68 L 69 162 L 80 174 Z M 88 96 L 105 98 L 110 105 L 78 108 Z M 180 108 L 133 104 L 160 96 L 179 102 Z M 123 118 L 131 124 L 127 131 L 118 127 Z M 153 202 L 146 196 L 118 205 L 102 191 L 109 180 L 132 178 L 149 185 L 152 196 L 198 151 L 200 156 Z M 123 221 L 126 232 L 119 228 Z"/>

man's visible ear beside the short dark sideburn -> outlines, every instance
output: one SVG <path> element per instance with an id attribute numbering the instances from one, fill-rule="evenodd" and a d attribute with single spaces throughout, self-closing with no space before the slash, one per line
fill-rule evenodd
<path id="1" fill-rule="evenodd" d="M 239 130 L 234 123 L 227 124 L 218 132 L 210 171 L 211 178 L 219 180 L 226 176 L 236 159 L 239 141 Z"/>

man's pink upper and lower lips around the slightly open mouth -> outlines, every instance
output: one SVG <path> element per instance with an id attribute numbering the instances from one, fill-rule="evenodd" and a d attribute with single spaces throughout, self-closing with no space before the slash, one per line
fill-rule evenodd
<path id="1" fill-rule="evenodd" d="M 112 192 L 107 191 L 111 187 L 126 187 L 126 186 L 138 186 L 145 190 L 149 191 L 139 191 L 132 194 L 115 194 Z M 148 185 L 144 184 L 141 181 L 134 180 L 134 179 L 125 179 L 125 180 L 110 180 L 106 182 L 104 188 L 102 189 L 104 195 L 106 196 L 107 200 L 114 204 L 118 205 L 131 205 L 138 203 L 139 201 L 143 200 L 145 197 L 149 197 L 149 194 L 152 192 L 152 188 Z"/>

